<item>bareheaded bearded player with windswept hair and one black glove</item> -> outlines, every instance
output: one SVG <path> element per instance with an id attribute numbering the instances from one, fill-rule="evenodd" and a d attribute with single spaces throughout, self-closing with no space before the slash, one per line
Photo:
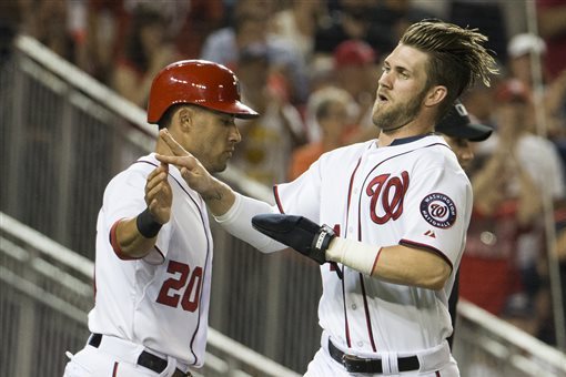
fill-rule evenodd
<path id="1" fill-rule="evenodd" d="M 181 169 L 225 230 L 260 251 L 286 245 L 321 264 L 323 335 L 306 376 L 459 375 L 447 297 L 472 188 L 433 131 L 464 90 L 497 71 L 485 41 L 439 21 L 411 26 L 383 63 L 378 139 L 323 154 L 274 187 L 274 207 L 236 194 L 161 133 L 173 155 L 158 160 Z"/>

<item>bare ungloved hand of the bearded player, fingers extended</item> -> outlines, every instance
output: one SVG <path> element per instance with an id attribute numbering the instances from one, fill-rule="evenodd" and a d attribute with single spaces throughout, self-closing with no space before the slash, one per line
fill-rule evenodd
<path id="1" fill-rule="evenodd" d="M 196 157 L 173 139 L 166 129 L 159 132 L 159 137 L 166 144 L 171 154 L 156 154 L 155 157 L 162 163 L 175 165 L 191 188 L 201 195 L 206 195 L 213 185 L 212 175 Z"/>

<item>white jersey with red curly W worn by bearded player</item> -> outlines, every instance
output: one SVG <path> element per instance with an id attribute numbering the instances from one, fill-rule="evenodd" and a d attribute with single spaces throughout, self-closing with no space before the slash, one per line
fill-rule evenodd
<path id="1" fill-rule="evenodd" d="M 322 265 L 319 318 L 335 344 L 360 355 L 412 351 L 438 346 L 451 335 L 447 297 L 465 246 L 472 187 L 444 139 L 342 147 L 274 192 L 282 213 L 377 247 L 403 244 L 436 253 L 453 266 L 446 288 L 431 291 L 338 265 L 341 279 L 331 264 Z"/>

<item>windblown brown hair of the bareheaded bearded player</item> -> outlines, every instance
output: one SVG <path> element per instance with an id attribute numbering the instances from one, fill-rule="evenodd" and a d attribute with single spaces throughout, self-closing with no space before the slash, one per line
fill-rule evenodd
<path id="1" fill-rule="evenodd" d="M 486 41 L 487 37 L 477 29 L 464 29 L 438 20 L 413 23 L 401 38 L 401 44 L 428 54 L 427 88 L 447 88 L 439 118 L 476 81 L 489 86 L 489 75 L 498 72 L 495 59 L 483 45 Z"/>

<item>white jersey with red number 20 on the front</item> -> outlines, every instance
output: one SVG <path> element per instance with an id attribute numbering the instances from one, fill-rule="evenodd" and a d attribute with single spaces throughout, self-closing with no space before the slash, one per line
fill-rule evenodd
<path id="1" fill-rule="evenodd" d="M 143 259 L 123 259 L 113 226 L 145 207 L 154 154 L 138 160 L 107 186 L 97 225 L 92 333 L 113 335 L 199 367 L 204 361 L 210 303 L 212 236 L 202 198 L 169 166 L 171 220 Z M 112 246 L 114 243 L 114 247 Z"/>

